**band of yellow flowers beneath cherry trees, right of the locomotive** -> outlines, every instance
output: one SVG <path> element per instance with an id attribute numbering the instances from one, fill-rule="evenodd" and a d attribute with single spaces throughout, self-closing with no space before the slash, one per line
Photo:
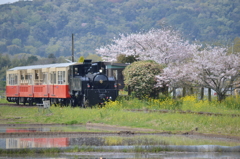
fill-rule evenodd
<path id="1" fill-rule="evenodd" d="M 118 100 L 109 102 L 106 109 L 147 109 L 147 110 L 174 110 L 174 111 L 192 111 L 192 112 L 210 112 L 221 114 L 239 114 L 240 115 L 240 98 L 228 97 L 225 101 L 219 102 L 213 99 L 198 100 L 195 96 L 186 96 L 177 100 L 172 98 L 151 99 L 145 98 L 138 100 Z"/>

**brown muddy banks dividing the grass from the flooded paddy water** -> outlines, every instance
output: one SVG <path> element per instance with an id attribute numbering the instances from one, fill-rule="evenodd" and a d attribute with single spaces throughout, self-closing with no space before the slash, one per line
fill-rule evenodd
<path id="1" fill-rule="evenodd" d="M 0 124 L 0 127 L 50 127 L 50 126 L 66 126 L 66 124 Z M 130 128 L 125 126 L 106 125 L 99 123 L 87 123 L 83 125 L 86 128 L 95 128 L 106 132 L 21 132 L 21 133 L 0 133 L 1 138 L 18 138 L 18 137 L 79 137 L 79 136 L 133 136 L 133 135 L 183 135 L 190 138 L 199 139 L 215 139 L 221 141 L 233 141 L 240 143 L 240 137 L 227 136 L 218 134 L 203 134 L 196 131 L 189 132 L 158 132 L 153 129 Z"/>

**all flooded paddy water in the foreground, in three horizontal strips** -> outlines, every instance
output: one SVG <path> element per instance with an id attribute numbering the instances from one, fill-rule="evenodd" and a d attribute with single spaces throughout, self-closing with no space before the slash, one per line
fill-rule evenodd
<path id="1" fill-rule="evenodd" d="M 0 127 L 0 133 L 27 133 L 27 132 L 50 132 L 50 131 L 79 131 L 87 130 L 84 126 L 55 126 L 55 127 L 31 127 L 31 128 L 12 128 Z M 55 133 L 54 133 L 55 134 Z M 57 134 L 57 133 L 56 133 Z M 25 149 L 25 148 L 74 148 L 84 146 L 105 147 L 131 147 L 138 145 L 154 146 L 154 145 L 224 145 L 224 146 L 237 146 L 239 142 L 232 142 L 218 140 L 201 139 L 177 135 L 140 135 L 140 136 L 82 136 L 82 137 L 35 137 L 35 138 L 0 138 L 0 149 Z M 133 147 L 132 146 L 132 147 Z M 113 149 L 112 149 L 113 150 Z M 111 153 L 112 152 L 112 153 Z M 1 156 L 0 158 L 237 158 L 239 153 L 186 153 L 186 152 L 161 152 L 161 153 L 116 153 L 109 151 L 108 153 L 64 153 L 57 154 L 54 157 L 49 156 Z"/>

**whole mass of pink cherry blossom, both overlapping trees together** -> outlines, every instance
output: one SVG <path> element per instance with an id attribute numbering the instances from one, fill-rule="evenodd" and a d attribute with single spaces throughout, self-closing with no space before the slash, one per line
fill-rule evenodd
<path id="1" fill-rule="evenodd" d="M 104 60 L 116 61 L 120 54 L 138 56 L 165 65 L 156 76 L 158 86 L 197 86 L 217 92 L 219 101 L 239 77 L 239 54 L 227 54 L 225 48 L 190 44 L 171 29 L 152 29 L 146 33 L 123 35 L 96 50 Z"/>

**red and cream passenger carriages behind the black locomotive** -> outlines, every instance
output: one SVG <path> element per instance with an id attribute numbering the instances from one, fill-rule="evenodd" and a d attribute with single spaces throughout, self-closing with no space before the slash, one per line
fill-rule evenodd
<path id="1" fill-rule="evenodd" d="M 6 96 L 9 102 L 42 103 L 64 101 L 68 91 L 69 66 L 74 63 L 22 66 L 7 71 Z"/>

